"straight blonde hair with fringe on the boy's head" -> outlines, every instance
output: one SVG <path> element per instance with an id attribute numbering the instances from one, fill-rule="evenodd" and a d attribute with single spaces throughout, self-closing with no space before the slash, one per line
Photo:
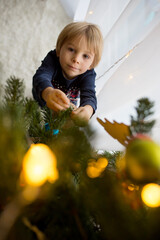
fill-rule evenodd
<path id="1" fill-rule="evenodd" d="M 66 41 L 75 40 L 80 37 L 86 37 L 87 45 L 95 54 L 92 68 L 95 68 L 102 56 L 103 36 L 99 27 L 87 22 L 72 22 L 64 27 L 58 36 L 56 43 L 56 53 L 59 55 L 61 47 Z"/>

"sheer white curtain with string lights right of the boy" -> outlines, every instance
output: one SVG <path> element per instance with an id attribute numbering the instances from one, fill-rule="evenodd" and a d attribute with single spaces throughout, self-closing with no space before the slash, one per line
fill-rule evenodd
<path id="1" fill-rule="evenodd" d="M 155 102 L 152 138 L 160 143 L 160 1 L 91 0 L 85 20 L 97 23 L 104 36 L 96 68 L 98 109 L 91 120 L 94 147 L 123 149 L 96 118 L 129 124 L 141 97 Z"/>

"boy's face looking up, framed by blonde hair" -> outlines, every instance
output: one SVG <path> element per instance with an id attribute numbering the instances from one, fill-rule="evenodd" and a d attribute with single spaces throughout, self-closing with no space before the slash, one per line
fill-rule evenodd
<path id="1" fill-rule="evenodd" d="M 94 55 L 87 48 L 85 37 L 64 43 L 58 55 L 64 76 L 67 79 L 73 79 L 89 70 L 93 63 Z"/>

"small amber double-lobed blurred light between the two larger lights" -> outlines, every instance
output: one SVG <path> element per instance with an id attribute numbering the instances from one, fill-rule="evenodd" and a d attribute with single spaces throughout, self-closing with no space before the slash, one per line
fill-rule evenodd
<path id="1" fill-rule="evenodd" d="M 104 171 L 104 169 L 108 165 L 108 160 L 106 158 L 99 158 L 96 162 L 95 160 L 92 160 L 88 163 L 88 167 L 86 169 L 87 175 L 90 178 L 96 178 L 101 175 L 101 173 Z"/>

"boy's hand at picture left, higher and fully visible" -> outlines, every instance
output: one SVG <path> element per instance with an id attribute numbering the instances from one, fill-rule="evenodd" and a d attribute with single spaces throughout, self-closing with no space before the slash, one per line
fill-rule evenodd
<path id="1" fill-rule="evenodd" d="M 46 101 L 47 107 L 56 112 L 66 110 L 70 107 L 70 101 L 66 94 L 59 89 L 46 88 L 42 92 L 42 98 Z"/>

